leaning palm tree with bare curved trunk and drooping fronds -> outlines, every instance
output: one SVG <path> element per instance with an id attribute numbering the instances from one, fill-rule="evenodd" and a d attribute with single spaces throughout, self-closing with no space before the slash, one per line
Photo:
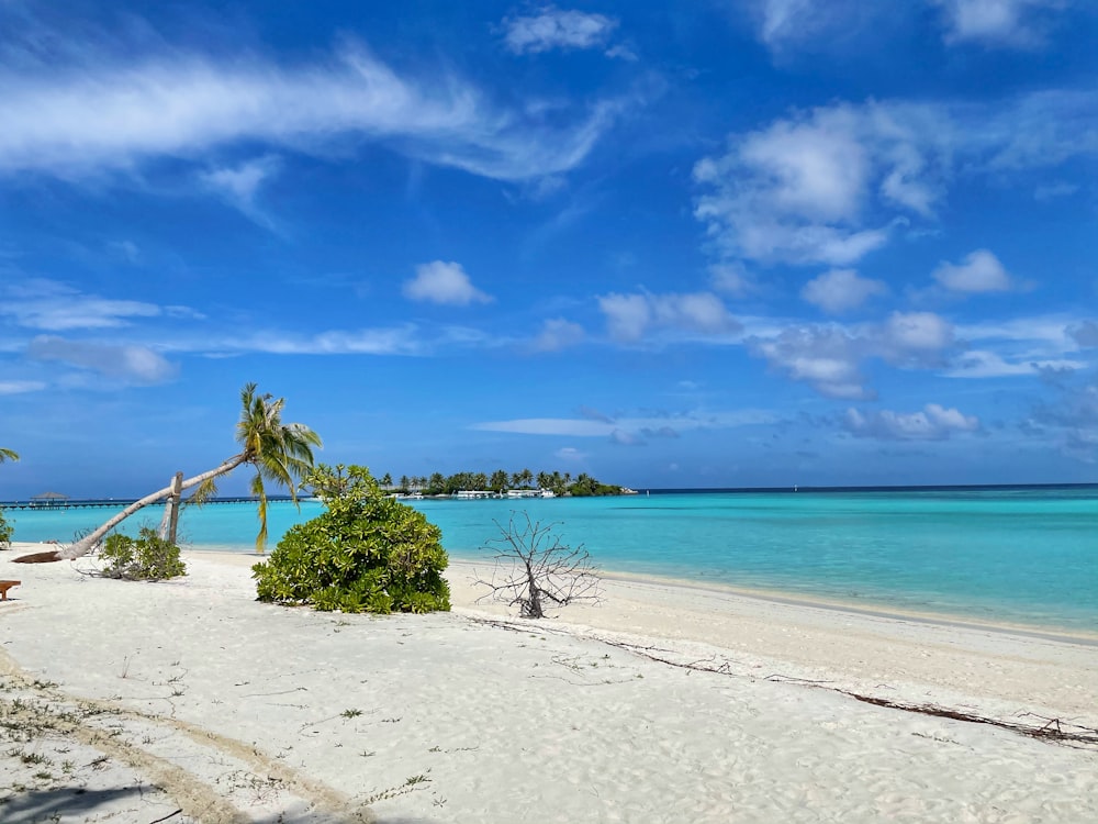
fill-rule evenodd
<path id="1" fill-rule="evenodd" d="M 79 558 L 91 552 L 107 533 L 143 506 L 194 487 L 198 487 L 198 490 L 192 500 L 204 500 L 214 493 L 217 478 L 227 475 L 242 464 L 250 464 L 256 468 L 256 477 L 251 479 L 250 488 L 259 501 L 259 535 L 256 536 L 256 549 L 262 552 L 267 542 L 267 483 L 285 487 L 290 491 L 290 498 L 296 503 L 298 483 L 313 466 L 313 447 L 321 446 L 321 436 L 304 424 L 282 423 L 285 399 L 276 399 L 271 394 L 257 394 L 255 383 L 248 383 L 240 391 L 240 405 L 236 442 L 242 448 L 221 466 L 188 478 L 178 487 L 172 483 L 150 495 L 145 495 L 139 501 L 134 501 L 98 530 L 65 549 L 24 555 L 15 560 L 42 563 Z"/>

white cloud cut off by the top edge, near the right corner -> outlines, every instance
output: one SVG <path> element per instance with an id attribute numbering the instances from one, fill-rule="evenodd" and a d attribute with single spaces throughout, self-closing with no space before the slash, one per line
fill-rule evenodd
<path id="1" fill-rule="evenodd" d="M 1063 0 L 933 0 L 945 20 L 945 42 L 1032 46 L 1041 41 L 1041 12 L 1063 8 Z"/>

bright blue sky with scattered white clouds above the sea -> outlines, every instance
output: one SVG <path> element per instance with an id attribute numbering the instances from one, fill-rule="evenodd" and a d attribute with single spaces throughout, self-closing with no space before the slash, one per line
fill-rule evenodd
<path id="1" fill-rule="evenodd" d="M 0 499 L 1098 480 L 1084 0 L 0 0 Z M 246 476 L 223 485 L 244 490 Z"/>

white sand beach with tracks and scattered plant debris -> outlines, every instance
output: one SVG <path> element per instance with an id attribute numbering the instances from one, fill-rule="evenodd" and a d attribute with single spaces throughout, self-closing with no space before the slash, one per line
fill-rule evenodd
<path id="1" fill-rule="evenodd" d="M 610 577 L 552 621 L 255 601 L 254 556 L 132 583 L 16 565 L 4 822 L 1086 822 L 1098 645 Z M 488 570 L 482 570 L 488 571 Z"/>

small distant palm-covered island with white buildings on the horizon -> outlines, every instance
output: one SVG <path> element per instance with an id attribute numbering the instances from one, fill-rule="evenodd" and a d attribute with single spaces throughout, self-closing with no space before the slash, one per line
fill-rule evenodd
<path id="1" fill-rule="evenodd" d="M 378 481 L 388 492 L 403 498 L 592 498 L 636 494 L 628 487 L 603 483 L 586 472 L 574 478 L 571 472 L 538 472 L 529 469 L 507 472 L 504 469 L 485 472 L 455 472 L 444 476 L 403 475 L 393 480 L 385 472 Z"/>

